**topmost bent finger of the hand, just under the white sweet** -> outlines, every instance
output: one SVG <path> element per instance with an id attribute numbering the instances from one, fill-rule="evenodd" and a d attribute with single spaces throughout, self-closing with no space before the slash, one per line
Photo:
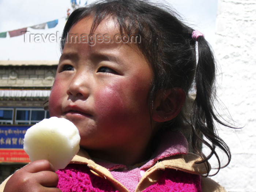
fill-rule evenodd
<path id="1" fill-rule="evenodd" d="M 53 165 L 45 159 L 33 161 L 28 165 L 24 166 L 24 169 L 30 173 L 37 173 L 41 171 L 55 172 Z"/>

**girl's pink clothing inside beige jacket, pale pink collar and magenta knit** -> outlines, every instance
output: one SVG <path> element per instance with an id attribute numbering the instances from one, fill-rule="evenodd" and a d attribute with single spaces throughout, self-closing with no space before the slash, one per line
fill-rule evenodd
<path id="1" fill-rule="evenodd" d="M 154 166 L 160 159 L 177 154 L 187 153 L 187 141 L 181 133 L 168 132 L 162 140 L 155 157 L 141 167 L 128 170 L 121 164 L 97 162 L 106 167 L 116 180 L 129 191 L 135 191 L 144 172 Z M 116 192 L 111 184 L 90 172 L 86 165 L 69 164 L 65 169 L 56 172 L 59 176 L 58 188 L 63 192 Z M 145 189 L 145 192 L 201 192 L 200 176 L 172 169 L 166 169 L 159 180 Z"/>

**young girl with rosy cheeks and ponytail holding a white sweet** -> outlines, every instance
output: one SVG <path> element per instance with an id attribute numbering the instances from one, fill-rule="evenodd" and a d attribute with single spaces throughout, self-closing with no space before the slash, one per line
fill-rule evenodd
<path id="1" fill-rule="evenodd" d="M 78 127 L 81 150 L 56 173 L 26 165 L 4 192 L 224 191 L 206 178 L 212 155 L 221 168 L 215 148 L 230 151 L 215 133 L 215 61 L 200 32 L 146 1 L 106 0 L 72 12 L 61 50 L 49 112 Z"/>

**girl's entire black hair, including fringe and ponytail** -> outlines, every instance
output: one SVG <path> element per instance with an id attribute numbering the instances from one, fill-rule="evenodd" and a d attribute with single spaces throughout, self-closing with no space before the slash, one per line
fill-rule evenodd
<path id="1" fill-rule="evenodd" d="M 154 101 L 155 93 L 159 90 L 181 87 L 187 98 L 191 89 L 196 90 L 196 97 L 189 111 L 190 120 L 181 111 L 174 120 L 166 122 L 164 127 L 185 127 L 189 124 L 191 134 L 188 139 L 191 140 L 192 151 L 202 158 L 198 163 L 206 165 L 208 174 L 208 159 L 212 155 L 218 159 L 218 171 L 222 168 L 216 148 L 226 154 L 228 162 L 223 167 L 227 166 L 231 153 L 226 143 L 217 135 L 214 121 L 229 126 L 217 117 L 214 109 L 215 59 L 206 39 L 203 36 L 197 39 L 197 56 L 196 41 L 191 36 L 194 30 L 185 25 L 175 11 L 143 0 L 103 0 L 72 12 L 64 27 L 61 51 L 71 27 L 87 16 L 94 19 L 91 32 L 103 19 L 111 16 L 119 25 L 120 33 L 139 35 L 140 43 L 136 45 L 154 72 L 150 102 Z M 210 148 L 211 153 L 207 156 L 202 153 L 202 143 Z"/>

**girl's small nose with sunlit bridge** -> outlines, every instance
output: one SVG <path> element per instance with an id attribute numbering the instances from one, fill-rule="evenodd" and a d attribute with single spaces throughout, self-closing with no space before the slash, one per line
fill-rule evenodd
<path id="1" fill-rule="evenodd" d="M 82 74 L 76 74 L 68 87 L 68 95 L 87 99 L 89 97 L 89 79 Z"/>

